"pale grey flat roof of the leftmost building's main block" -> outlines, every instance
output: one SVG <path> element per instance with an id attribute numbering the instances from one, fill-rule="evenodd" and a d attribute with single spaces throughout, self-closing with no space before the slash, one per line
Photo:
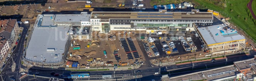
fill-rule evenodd
<path id="1" fill-rule="evenodd" d="M 35 26 L 25 58 L 38 62 L 59 62 L 65 50 L 69 26 L 50 27 L 54 25 L 50 18 L 52 15 L 38 16 L 42 18 L 41 26 L 44 27 Z"/>

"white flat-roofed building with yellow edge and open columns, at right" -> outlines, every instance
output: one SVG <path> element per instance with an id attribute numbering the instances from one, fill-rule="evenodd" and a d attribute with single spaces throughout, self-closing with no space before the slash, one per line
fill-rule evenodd
<path id="1" fill-rule="evenodd" d="M 226 24 L 213 25 L 207 27 L 195 27 L 199 38 L 204 46 L 211 51 L 239 50 L 245 48 L 245 37 L 238 34 Z"/>

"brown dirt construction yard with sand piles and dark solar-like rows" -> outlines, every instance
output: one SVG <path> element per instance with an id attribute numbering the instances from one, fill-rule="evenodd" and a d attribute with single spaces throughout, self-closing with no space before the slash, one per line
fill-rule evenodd
<path id="1" fill-rule="evenodd" d="M 81 68 L 111 67 L 114 64 L 119 64 L 119 66 L 142 64 L 144 57 L 133 35 L 135 34 L 132 31 L 112 32 L 112 34 L 93 31 L 91 41 L 71 39 L 67 61 L 78 63 L 77 67 Z"/>

